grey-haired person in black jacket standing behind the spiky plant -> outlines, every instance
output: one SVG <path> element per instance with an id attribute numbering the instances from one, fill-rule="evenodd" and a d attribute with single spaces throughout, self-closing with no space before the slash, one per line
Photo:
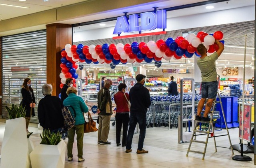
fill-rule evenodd
<path id="1" fill-rule="evenodd" d="M 52 96 L 51 84 L 44 84 L 42 86 L 42 93 L 44 98 L 38 104 L 39 123 L 44 129 L 50 129 L 51 132 L 60 132 L 64 124 L 61 112 L 62 102 L 57 96 Z"/>

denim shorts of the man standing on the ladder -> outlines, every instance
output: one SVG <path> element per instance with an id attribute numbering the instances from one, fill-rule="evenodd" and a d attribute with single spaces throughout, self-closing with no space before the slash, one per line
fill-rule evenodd
<path id="1" fill-rule="evenodd" d="M 202 82 L 201 91 L 202 98 L 215 99 L 218 91 L 218 82 Z"/>

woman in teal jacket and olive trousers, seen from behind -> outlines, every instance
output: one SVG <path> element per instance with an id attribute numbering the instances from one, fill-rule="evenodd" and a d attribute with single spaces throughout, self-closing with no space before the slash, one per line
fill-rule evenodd
<path id="1" fill-rule="evenodd" d="M 76 123 L 74 127 L 68 130 L 68 161 L 73 160 L 73 143 L 76 133 L 77 150 L 78 150 L 78 162 L 83 162 L 83 146 L 84 146 L 84 113 L 88 112 L 88 107 L 84 103 L 84 100 L 76 96 L 77 90 L 74 87 L 69 87 L 67 90 L 68 98 L 63 102 L 65 106 L 71 105 L 76 112 Z M 69 109 L 72 117 L 74 117 L 74 111 L 72 108 Z"/>

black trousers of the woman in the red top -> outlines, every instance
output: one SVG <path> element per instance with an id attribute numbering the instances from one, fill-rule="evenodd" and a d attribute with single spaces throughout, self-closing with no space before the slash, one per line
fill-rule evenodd
<path id="1" fill-rule="evenodd" d="M 129 123 L 129 113 L 116 113 L 116 143 L 120 143 L 121 129 L 123 125 L 122 145 L 126 144 Z"/>

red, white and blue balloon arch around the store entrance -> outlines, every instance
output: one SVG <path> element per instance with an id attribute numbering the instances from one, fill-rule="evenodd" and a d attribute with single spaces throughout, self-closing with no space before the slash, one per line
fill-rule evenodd
<path id="1" fill-rule="evenodd" d="M 145 42 L 133 42 L 132 44 L 118 43 L 110 44 L 107 43 L 103 45 L 70 45 L 66 44 L 65 49 L 61 51 L 61 64 L 62 68 L 60 73 L 61 84 L 60 88 L 65 84 L 66 78 L 73 78 L 73 86 L 76 87 L 76 69 L 78 65 L 76 62 L 81 63 L 94 63 L 94 64 L 110 64 L 111 62 L 115 65 L 122 63 L 151 63 L 153 60 L 156 62 L 162 59 L 169 61 L 170 59 L 181 59 L 182 57 L 191 58 L 195 54 L 201 57 L 196 51 L 196 47 L 203 43 L 208 53 L 214 53 L 218 50 L 218 45 L 215 39 L 221 40 L 223 38 L 223 33 L 221 31 L 215 31 L 213 34 L 205 33 L 204 31 L 199 31 L 197 35 L 194 33 L 189 33 L 185 38 L 182 36 L 176 37 L 174 40 L 169 37 L 164 41 L 159 39 L 158 41 Z M 220 41 L 224 44 L 224 41 Z"/>

